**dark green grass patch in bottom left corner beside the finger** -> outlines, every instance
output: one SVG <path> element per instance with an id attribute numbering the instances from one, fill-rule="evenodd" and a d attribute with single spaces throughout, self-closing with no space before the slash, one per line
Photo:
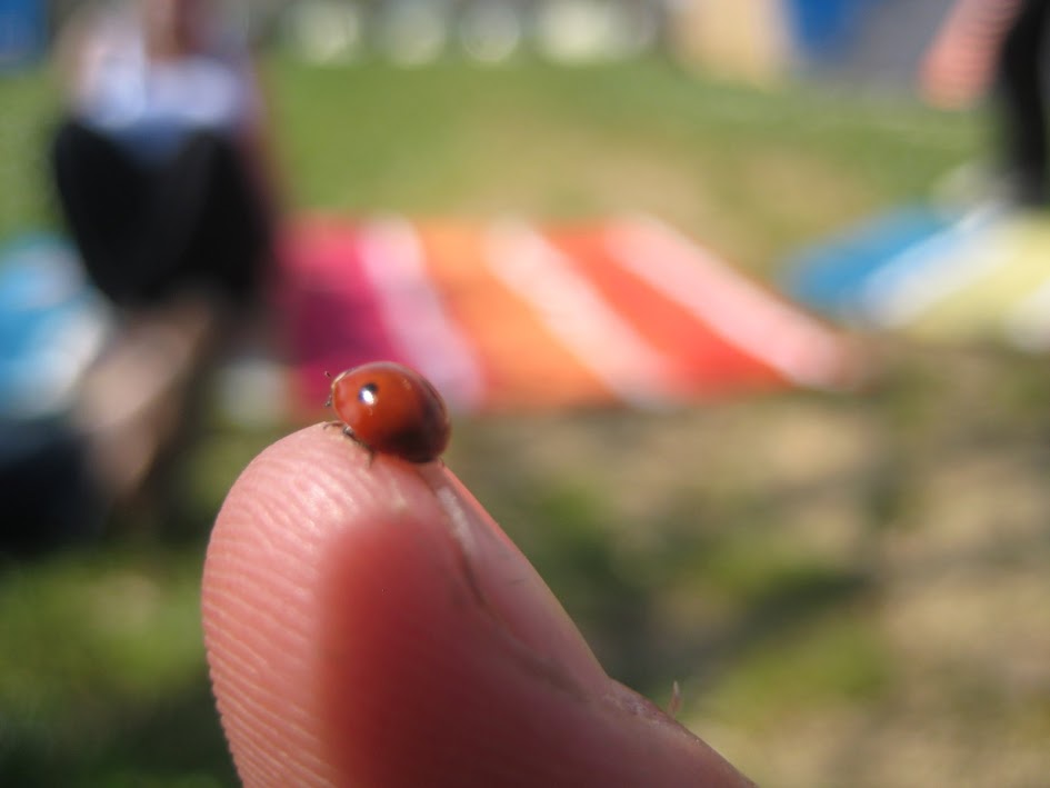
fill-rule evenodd
<path id="1" fill-rule="evenodd" d="M 232 784 L 200 560 L 199 546 L 111 546 L 0 570 L 3 785 Z"/>

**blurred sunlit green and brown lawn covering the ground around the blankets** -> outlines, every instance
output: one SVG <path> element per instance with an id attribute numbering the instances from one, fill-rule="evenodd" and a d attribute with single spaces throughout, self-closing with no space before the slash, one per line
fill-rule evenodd
<path id="1" fill-rule="evenodd" d="M 926 198 L 984 141 L 976 116 L 659 59 L 264 67 L 297 209 L 646 210 L 758 276 Z M 47 77 L 4 77 L 0 106 L 3 237 L 53 222 Z M 447 459 L 610 674 L 660 702 L 681 681 L 683 721 L 763 785 L 1039 785 L 1044 360 L 881 350 L 857 396 L 459 419 Z M 224 490 L 272 437 L 216 420 L 186 458 L 178 540 L 132 521 L 104 549 L 0 566 L 0 784 L 233 782 L 197 583 Z"/>

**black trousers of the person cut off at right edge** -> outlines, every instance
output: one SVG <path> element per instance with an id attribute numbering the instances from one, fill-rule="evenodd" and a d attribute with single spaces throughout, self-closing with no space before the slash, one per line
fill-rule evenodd
<path id="1" fill-rule="evenodd" d="M 997 62 L 1002 163 L 1013 196 L 1027 205 L 1050 199 L 1043 87 L 1048 11 L 1050 0 L 1022 0 Z"/>

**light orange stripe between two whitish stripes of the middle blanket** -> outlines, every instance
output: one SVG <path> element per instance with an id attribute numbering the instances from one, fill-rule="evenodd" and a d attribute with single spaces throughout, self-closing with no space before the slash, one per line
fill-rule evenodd
<path id="1" fill-rule="evenodd" d="M 490 271 L 474 225 L 417 225 L 426 266 L 446 306 L 474 342 L 492 409 L 609 401 L 612 393 L 551 336 L 536 313 Z"/>

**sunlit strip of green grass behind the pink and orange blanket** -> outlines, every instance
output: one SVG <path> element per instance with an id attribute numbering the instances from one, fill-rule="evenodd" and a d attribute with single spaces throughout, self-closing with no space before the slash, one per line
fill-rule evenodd
<path id="1" fill-rule="evenodd" d="M 747 90 L 662 60 L 271 70 L 294 202 L 412 215 L 650 210 L 741 265 L 926 194 L 973 122 L 888 97 Z M 610 163 L 614 162 L 614 166 Z"/>

